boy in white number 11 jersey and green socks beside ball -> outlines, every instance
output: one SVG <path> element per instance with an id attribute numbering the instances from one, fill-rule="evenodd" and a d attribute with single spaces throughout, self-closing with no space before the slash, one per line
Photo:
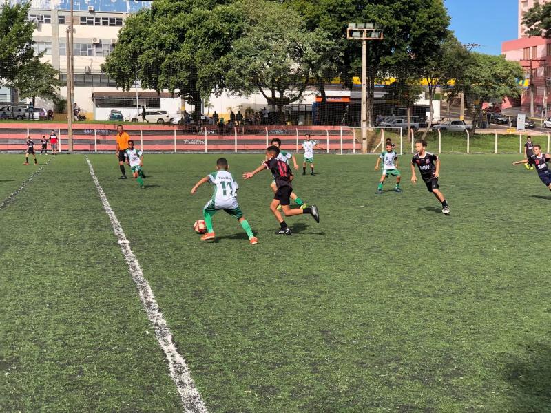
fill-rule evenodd
<path id="1" fill-rule="evenodd" d="M 203 217 L 205 218 L 205 224 L 207 224 L 207 233 L 201 237 L 202 241 L 214 241 L 214 229 L 212 226 L 212 217 L 216 211 L 226 211 L 229 215 L 235 217 L 247 233 L 249 242 L 252 245 L 258 244 L 258 240 L 253 235 L 253 230 L 249 226 L 249 222 L 245 220 L 243 213 L 237 202 L 237 190 L 239 186 L 233 179 L 231 173 L 228 172 L 229 166 L 226 158 L 218 158 L 216 160 L 216 172 L 202 178 L 191 189 L 191 193 L 196 193 L 198 187 L 202 184 L 210 182 L 214 185 L 214 193 L 212 198 L 207 202 L 205 208 L 202 209 Z"/>

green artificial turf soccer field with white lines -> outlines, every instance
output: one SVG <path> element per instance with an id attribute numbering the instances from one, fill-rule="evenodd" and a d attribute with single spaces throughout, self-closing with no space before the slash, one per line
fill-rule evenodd
<path id="1" fill-rule="evenodd" d="M 445 216 L 410 156 L 375 195 L 374 156 L 316 155 L 294 187 L 320 224 L 290 237 L 269 173 L 241 178 L 262 155 L 226 157 L 256 246 L 223 212 L 192 230 L 218 156 L 146 154 L 145 189 L 88 156 L 209 412 L 551 410 L 551 193 L 521 157 L 442 156 Z M 0 155 L 0 204 L 22 163 Z M 183 410 L 85 156 L 0 207 L 0 299 L 0 412 Z"/>

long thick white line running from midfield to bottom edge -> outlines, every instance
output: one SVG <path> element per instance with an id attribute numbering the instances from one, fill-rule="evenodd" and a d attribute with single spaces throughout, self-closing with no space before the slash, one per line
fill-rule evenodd
<path id="1" fill-rule="evenodd" d="M 163 349 L 167 357 L 170 375 L 176 384 L 176 388 L 178 389 L 178 393 L 180 393 L 180 397 L 182 399 L 183 411 L 186 413 L 206 413 L 207 407 L 202 401 L 193 379 L 191 379 L 189 368 L 187 367 L 184 358 L 178 353 L 178 350 L 176 350 L 174 341 L 172 341 L 172 332 L 167 326 L 167 321 L 165 320 L 165 317 L 163 317 L 163 313 L 160 312 L 151 286 L 149 286 L 149 282 L 147 282 L 147 279 L 143 276 L 138 259 L 130 248 L 130 242 L 127 240 L 123 228 L 121 227 L 121 223 L 118 222 L 115 213 L 110 207 L 109 201 L 107 200 L 105 192 L 103 192 L 103 189 L 99 184 L 98 178 L 94 173 L 94 168 L 92 167 L 88 157 L 86 157 L 86 162 L 88 162 L 90 175 L 96 184 L 96 189 L 98 190 L 99 198 L 103 204 L 103 209 L 105 209 L 105 212 L 109 216 L 113 227 L 113 232 L 118 240 L 118 244 L 121 246 L 121 250 L 123 251 L 130 275 L 132 275 L 132 279 L 134 279 L 134 282 L 138 287 L 138 293 L 140 295 L 143 308 L 145 309 L 145 313 L 147 313 L 149 321 L 153 324 L 159 346 Z"/>

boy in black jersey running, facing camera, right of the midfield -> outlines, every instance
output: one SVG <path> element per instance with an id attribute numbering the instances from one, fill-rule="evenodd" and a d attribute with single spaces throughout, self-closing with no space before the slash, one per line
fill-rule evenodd
<path id="1" fill-rule="evenodd" d="M 415 155 L 411 160 L 411 182 L 417 183 L 417 177 L 415 176 L 415 165 L 419 168 L 421 178 L 426 184 L 426 188 L 429 192 L 435 194 L 436 198 L 442 204 L 442 213 L 448 215 L 450 213 L 450 207 L 446 198 L 439 190 L 438 176 L 440 171 L 440 159 L 434 153 L 426 151 L 426 142 L 422 139 L 415 142 Z"/>

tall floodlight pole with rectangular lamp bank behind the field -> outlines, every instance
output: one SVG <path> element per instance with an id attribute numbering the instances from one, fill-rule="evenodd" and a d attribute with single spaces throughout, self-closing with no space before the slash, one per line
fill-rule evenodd
<path id="1" fill-rule="evenodd" d="M 367 151 L 367 41 L 383 40 L 383 30 L 375 23 L 349 23 L 346 39 L 362 41 L 362 151 Z M 370 122 L 371 123 L 371 122 Z M 370 125 L 371 126 L 371 125 Z"/>

